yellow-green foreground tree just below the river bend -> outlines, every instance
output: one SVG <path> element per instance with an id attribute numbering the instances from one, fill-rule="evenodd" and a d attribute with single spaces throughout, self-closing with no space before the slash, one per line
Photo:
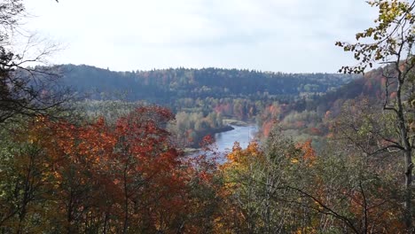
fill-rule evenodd
<path id="1" fill-rule="evenodd" d="M 310 141 L 295 145 L 278 128 L 262 147 L 235 144 L 221 167 L 223 215 L 215 220 L 216 232 L 309 232 L 311 212 L 291 188 L 314 184 L 307 169 L 314 160 Z"/>

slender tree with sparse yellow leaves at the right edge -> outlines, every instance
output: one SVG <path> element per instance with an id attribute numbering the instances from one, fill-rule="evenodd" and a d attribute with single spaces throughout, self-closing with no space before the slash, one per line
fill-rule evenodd
<path id="1" fill-rule="evenodd" d="M 415 1 L 373 0 L 368 3 L 379 8 L 376 25 L 356 34 L 357 43 L 336 43 L 344 51 L 352 51 L 359 61 L 356 66 L 343 66 L 341 71 L 358 74 L 364 73 L 373 64 L 386 65 L 383 110 L 393 113 L 398 134 L 394 138 L 385 138 L 388 144 L 382 150 L 402 152 L 405 163 L 404 220 L 408 232 L 413 233 L 411 183 L 415 138 L 411 123 L 415 112 L 415 103 L 412 101 L 415 97 Z"/>

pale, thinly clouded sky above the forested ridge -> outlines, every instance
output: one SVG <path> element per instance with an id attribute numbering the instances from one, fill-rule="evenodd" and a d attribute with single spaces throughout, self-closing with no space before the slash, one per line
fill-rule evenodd
<path id="1" fill-rule="evenodd" d="M 59 43 L 55 64 L 114 71 L 223 67 L 334 73 L 376 17 L 364 0 L 25 0 L 22 27 Z"/>

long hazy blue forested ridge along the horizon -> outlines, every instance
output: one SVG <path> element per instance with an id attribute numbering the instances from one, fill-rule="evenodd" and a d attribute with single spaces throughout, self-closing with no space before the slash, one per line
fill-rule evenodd
<path id="1" fill-rule="evenodd" d="M 170 68 L 113 72 L 94 66 L 60 66 L 63 82 L 92 99 L 167 103 L 172 98 L 293 98 L 333 90 L 354 78 L 345 74 L 282 74 L 238 69 Z"/>

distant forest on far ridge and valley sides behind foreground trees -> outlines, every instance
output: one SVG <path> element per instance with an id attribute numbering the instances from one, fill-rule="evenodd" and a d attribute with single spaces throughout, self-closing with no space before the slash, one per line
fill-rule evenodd
<path id="1" fill-rule="evenodd" d="M 268 136 L 278 121 L 286 135 L 300 141 L 313 139 L 318 148 L 322 136 L 329 133 L 328 115 L 337 116 L 348 100 L 384 95 L 382 68 L 362 76 L 220 68 L 114 72 L 85 65 L 57 67 L 60 81 L 77 93 L 76 108 L 82 108 L 82 113 L 114 121 L 137 105 L 163 105 L 176 115 L 169 130 L 177 142 L 195 148 L 203 136 L 228 130 L 226 119 L 254 122 L 260 136 Z"/>

